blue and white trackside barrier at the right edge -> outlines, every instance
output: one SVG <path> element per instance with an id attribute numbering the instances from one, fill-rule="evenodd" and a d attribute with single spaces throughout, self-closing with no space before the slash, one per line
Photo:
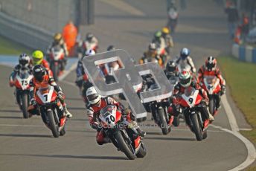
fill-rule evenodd
<path id="1" fill-rule="evenodd" d="M 256 48 L 252 48 L 251 46 L 234 44 L 232 47 L 232 55 L 242 61 L 256 63 Z"/>

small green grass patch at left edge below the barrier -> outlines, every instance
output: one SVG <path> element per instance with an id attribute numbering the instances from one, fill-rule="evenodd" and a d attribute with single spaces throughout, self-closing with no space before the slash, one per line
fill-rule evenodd
<path id="1" fill-rule="evenodd" d="M 18 55 L 22 53 L 30 54 L 31 49 L 0 36 L 0 54 Z"/>

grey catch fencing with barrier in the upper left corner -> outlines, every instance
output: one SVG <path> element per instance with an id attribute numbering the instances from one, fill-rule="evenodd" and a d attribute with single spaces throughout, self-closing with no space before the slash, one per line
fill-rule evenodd
<path id="1" fill-rule="evenodd" d="M 0 0 L 0 34 L 32 49 L 48 47 L 54 33 L 78 24 L 81 0 Z"/>

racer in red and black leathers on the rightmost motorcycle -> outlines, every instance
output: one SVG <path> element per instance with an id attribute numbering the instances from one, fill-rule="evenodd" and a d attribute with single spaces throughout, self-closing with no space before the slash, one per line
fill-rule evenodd
<path id="1" fill-rule="evenodd" d="M 220 96 L 225 94 L 225 79 L 220 73 L 220 68 L 217 67 L 217 59 L 210 56 L 205 60 L 205 65 L 199 68 L 197 73 L 197 83 L 201 83 L 205 76 L 216 76 L 220 79 L 221 93 L 217 96 L 217 109 L 220 109 Z"/>

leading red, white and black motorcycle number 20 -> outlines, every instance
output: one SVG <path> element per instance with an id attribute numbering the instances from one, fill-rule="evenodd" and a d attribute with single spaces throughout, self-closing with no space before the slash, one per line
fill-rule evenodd
<path id="1" fill-rule="evenodd" d="M 103 132 L 129 160 L 144 158 L 147 149 L 136 129 L 129 126 L 116 106 L 108 105 L 100 110 L 100 124 Z"/>

